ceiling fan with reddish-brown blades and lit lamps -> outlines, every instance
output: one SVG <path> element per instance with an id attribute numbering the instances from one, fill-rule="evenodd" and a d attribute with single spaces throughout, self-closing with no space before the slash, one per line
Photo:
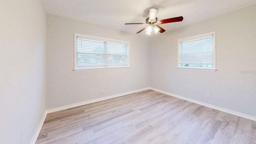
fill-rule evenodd
<path id="1" fill-rule="evenodd" d="M 142 30 L 138 31 L 136 34 L 142 32 L 143 30 L 146 29 L 146 34 L 151 35 L 152 29 L 154 29 L 154 32 L 160 32 L 163 33 L 165 30 L 158 26 L 158 24 L 166 24 L 170 22 L 180 22 L 183 20 L 182 16 L 176 17 L 176 18 L 167 18 L 164 20 L 158 20 L 156 17 L 157 14 L 157 9 L 156 8 L 150 8 L 149 9 L 149 17 L 146 18 L 146 23 L 126 23 L 126 24 L 148 24 L 149 26 L 146 26 L 145 28 L 142 28 Z"/>

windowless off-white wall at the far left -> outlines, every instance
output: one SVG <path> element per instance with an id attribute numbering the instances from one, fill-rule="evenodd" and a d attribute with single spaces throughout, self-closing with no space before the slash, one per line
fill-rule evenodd
<path id="1" fill-rule="evenodd" d="M 41 0 L 1 0 L 0 144 L 29 144 L 46 108 L 45 85 Z"/>

